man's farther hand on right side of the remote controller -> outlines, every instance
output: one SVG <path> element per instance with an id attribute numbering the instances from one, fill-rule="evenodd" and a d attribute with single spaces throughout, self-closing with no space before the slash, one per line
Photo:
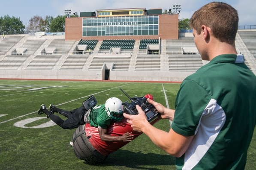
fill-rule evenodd
<path id="1" fill-rule="evenodd" d="M 175 110 L 164 107 L 162 104 L 155 102 L 154 100 L 148 99 L 148 103 L 155 106 L 157 111 L 161 114 L 162 119 L 173 120 Z"/>

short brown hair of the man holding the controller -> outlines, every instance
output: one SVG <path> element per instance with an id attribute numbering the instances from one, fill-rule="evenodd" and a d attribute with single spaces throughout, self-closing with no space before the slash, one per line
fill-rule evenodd
<path id="1" fill-rule="evenodd" d="M 194 12 L 190 27 L 201 34 L 201 26 L 211 28 L 214 36 L 221 42 L 232 44 L 238 29 L 238 13 L 227 3 L 212 2 Z"/>

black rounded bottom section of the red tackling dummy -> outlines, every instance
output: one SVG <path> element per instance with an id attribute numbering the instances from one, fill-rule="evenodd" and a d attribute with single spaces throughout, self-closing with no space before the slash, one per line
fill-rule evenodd
<path id="1" fill-rule="evenodd" d="M 73 136 L 72 141 L 75 138 L 75 135 L 84 130 L 85 125 L 79 126 Z M 104 156 L 99 153 L 93 146 L 90 144 L 90 141 L 87 139 L 86 135 L 83 133 L 78 136 L 74 143 L 74 152 L 77 158 L 85 160 L 89 164 L 97 164 L 104 161 L 108 155 Z"/>

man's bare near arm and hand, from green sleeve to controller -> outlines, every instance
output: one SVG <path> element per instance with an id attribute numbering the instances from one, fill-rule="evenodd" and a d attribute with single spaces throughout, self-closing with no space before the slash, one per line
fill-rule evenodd
<path id="1" fill-rule="evenodd" d="M 130 119 L 127 122 L 132 125 L 133 130 L 145 133 L 155 145 L 175 157 L 181 157 L 187 151 L 194 136 L 180 135 L 172 129 L 169 132 L 157 129 L 148 122 L 142 108 L 138 105 L 136 108 L 138 115 L 123 114 Z"/>

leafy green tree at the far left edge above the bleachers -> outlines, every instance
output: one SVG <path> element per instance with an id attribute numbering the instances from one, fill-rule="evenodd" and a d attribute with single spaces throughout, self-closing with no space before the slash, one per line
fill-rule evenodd
<path id="1" fill-rule="evenodd" d="M 20 18 L 4 15 L 0 17 L 0 34 L 24 34 L 25 26 Z"/>

